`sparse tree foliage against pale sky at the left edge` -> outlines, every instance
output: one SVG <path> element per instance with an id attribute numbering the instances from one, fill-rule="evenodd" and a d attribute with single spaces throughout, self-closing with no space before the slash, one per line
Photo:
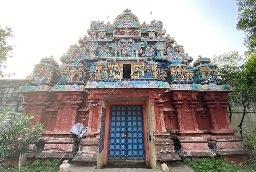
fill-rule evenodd
<path id="1" fill-rule="evenodd" d="M 12 74 L 3 74 L 2 68 L 6 68 L 6 61 L 11 56 L 12 45 L 7 45 L 6 40 L 8 37 L 13 37 L 12 29 L 6 27 L 5 29 L 0 26 L 0 78 L 10 77 Z M 14 74 L 14 73 L 13 73 Z"/>

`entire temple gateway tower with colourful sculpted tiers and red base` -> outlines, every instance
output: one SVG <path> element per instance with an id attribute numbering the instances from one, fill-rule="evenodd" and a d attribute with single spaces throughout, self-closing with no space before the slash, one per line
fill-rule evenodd
<path id="1" fill-rule="evenodd" d="M 91 21 L 62 64 L 41 59 L 33 82 L 17 90 L 25 114 L 45 127 L 27 157 L 97 168 L 129 159 L 151 168 L 182 157 L 239 161 L 244 145 L 227 113 L 233 88 L 209 58 L 190 65 L 193 58 L 165 32 L 162 21 L 140 24 L 126 9 L 113 24 Z"/>

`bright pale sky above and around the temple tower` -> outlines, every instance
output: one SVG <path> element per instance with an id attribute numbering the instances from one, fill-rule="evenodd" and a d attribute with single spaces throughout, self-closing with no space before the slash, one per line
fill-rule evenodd
<path id="1" fill-rule="evenodd" d="M 15 45 L 7 60 L 5 73 L 16 73 L 8 79 L 25 79 L 40 59 L 59 58 L 79 37 L 87 34 L 91 21 L 115 17 L 130 8 L 142 24 L 161 20 L 166 34 L 183 45 L 185 53 L 196 60 L 198 55 L 211 58 L 237 50 L 242 55 L 243 32 L 236 31 L 237 6 L 234 0 L 168 0 L 168 1 L 78 1 L 78 0 L 2 0 L 0 26 L 12 28 Z M 192 63 L 191 63 L 192 65 Z M 7 79 L 7 78 L 6 78 Z"/>

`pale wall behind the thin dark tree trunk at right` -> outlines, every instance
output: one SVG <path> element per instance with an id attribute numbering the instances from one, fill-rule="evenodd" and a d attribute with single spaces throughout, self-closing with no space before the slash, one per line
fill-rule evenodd
<path id="1" fill-rule="evenodd" d="M 232 117 L 231 117 L 232 127 L 234 130 L 237 130 L 235 135 L 240 136 L 238 125 L 240 124 L 243 116 L 243 108 L 240 107 L 239 105 L 236 105 L 236 106 L 232 105 L 231 110 L 232 110 Z M 252 107 L 250 109 L 246 108 L 242 129 L 244 129 L 244 126 L 248 127 L 251 132 L 256 127 L 256 107 Z"/>

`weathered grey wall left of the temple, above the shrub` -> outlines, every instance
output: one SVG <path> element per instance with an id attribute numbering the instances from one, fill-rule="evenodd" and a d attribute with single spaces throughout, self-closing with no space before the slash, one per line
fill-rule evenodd
<path id="1" fill-rule="evenodd" d="M 18 112 L 23 112 L 23 106 L 20 105 L 24 98 L 21 93 L 17 93 L 16 90 L 21 85 L 25 85 L 27 80 L 25 79 L 1 79 L 0 80 L 0 104 L 10 105 Z M 17 106 L 18 105 L 18 106 Z"/>

